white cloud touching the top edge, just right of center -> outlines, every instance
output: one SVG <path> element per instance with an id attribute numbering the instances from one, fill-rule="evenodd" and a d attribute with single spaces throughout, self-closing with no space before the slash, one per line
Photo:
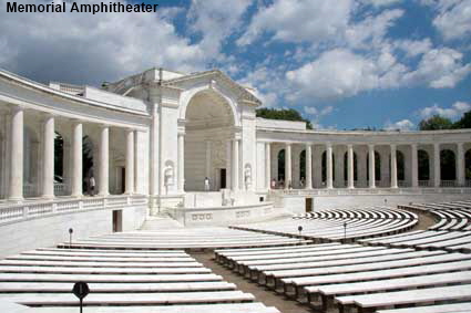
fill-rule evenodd
<path id="1" fill-rule="evenodd" d="M 335 6 L 331 0 L 276 0 L 259 8 L 237 43 L 250 44 L 264 32 L 287 42 L 330 40 L 345 31 L 352 7 L 354 0 L 337 0 Z"/>

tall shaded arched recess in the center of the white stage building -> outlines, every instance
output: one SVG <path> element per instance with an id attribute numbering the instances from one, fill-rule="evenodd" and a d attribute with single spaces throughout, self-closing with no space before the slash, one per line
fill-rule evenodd
<path id="1" fill-rule="evenodd" d="M 206 177 L 209 190 L 229 187 L 231 140 L 235 137 L 231 104 L 218 92 L 204 90 L 192 96 L 184 116 L 185 191 L 204 191 Z"/>

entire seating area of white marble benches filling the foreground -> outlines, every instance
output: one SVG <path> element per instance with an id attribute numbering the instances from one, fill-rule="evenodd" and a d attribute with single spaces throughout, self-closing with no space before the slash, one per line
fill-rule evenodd
<path id="1" fill-rule="evenodd" d="M 434 223 L 418 230 L 423 215 Z M 471 312 L 470 218 L 471 201 L 410 204 L 79 239 L 1 260 L 0 302 L 75 312 L 71 286 L 85 281 L 92 313 L 279 312 L 188 254 L 214 250 L 221 265 L 319 312 Z"/>

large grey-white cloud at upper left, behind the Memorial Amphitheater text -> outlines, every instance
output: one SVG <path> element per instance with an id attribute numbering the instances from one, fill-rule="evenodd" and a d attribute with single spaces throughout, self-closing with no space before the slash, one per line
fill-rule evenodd
<path id="1" fill-rule="evenodd" d="M 39 81 L 75 83 L 115 80 L 160 65 L 181 71 L 204 67 L 207 54 L 176 33 L 168 20 L 174 15 L 175 9 L 158 9 L 157 13 L 31 13 L 25 18 L 0 10 L 0 29 L 8 30 L 0 32 L 0 42 L 10 49 L 0 66 Z"/>

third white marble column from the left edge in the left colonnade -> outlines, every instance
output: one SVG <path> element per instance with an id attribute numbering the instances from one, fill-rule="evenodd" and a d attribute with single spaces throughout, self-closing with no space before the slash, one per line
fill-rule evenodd
<path id="1" fill-rule="evenodd" d="M 83 195 L 82 142 L 83 142 L 83 126 L 82 126 L 82 123 L 75 122 L 72 125 L 72 197 L 81 197 Z"/>

